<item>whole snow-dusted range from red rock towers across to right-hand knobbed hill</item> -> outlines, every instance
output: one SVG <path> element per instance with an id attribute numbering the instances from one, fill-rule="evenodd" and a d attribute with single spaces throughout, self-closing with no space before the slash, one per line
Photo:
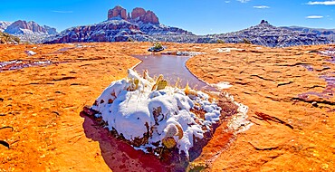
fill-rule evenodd
<path id="1" fill-rule="evenodd" d="M 333 31 L 329 31 L 333 35 Z M 100 24 L 72 27 L 43 40 L 43 43 L 87 43 L 158 41 L 175 43 L 254 43 L 270 47 L 334 43 L 327 32 L 275 27 L 267 21 L 247 29 L 221 34 L 196 35 L 177 27 L 159 23 L 152 11 L 135 8 L 131 13 L 120 5 L 108 12 L 108 20 Z"/>

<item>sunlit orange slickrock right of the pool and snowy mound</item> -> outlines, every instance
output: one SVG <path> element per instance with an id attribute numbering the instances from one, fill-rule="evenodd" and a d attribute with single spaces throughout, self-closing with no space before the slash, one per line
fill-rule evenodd
<path id="1" fill-rule="evenodd" d="M 191 72 L 209 83 L 233 84 L 226 91 L 249 106 L 249 119 L 254 122 L 215 160 L 212 170 L 333 171 L 333 88 L 328 87 L 329 99 L 298 96 L 326 90 L 319 77 L 331 75 L 335 66 L 326 62 L 330 57 L 309 52 L 329 46 L 233 47 L 245 52 L 198 55 L 187 62 Z"/>

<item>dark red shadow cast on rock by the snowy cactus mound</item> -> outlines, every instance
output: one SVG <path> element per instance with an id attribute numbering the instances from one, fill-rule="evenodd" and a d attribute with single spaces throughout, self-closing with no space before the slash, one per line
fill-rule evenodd
<path id="1" fill-rule="evenodd" d="M 157 157 L 135 150 L 126 142 L 113 138 L 108 129 L 103 129 L 99 122 L 86 116 L 82 127 L 89 139 L 99 141 L 101 156 L 112 171 L 185 171 L 186 167 L 178 167 L 171 162 L 162 162 Z M 187 163 L 188 165 L 188 163 Z"/>

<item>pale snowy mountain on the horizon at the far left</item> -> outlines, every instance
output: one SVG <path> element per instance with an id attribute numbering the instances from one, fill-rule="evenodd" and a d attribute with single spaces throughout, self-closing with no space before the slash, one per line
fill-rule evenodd
<path id="1" fill-rule="evenodd" d="M 57 33 L 56 29 L 47 25 L 39 25 L 33 21 L 18 20 L 14 23 L 0 22 L 0 31 L 20 38 L 21 42 L 42 43 L 42 40 Z"/>

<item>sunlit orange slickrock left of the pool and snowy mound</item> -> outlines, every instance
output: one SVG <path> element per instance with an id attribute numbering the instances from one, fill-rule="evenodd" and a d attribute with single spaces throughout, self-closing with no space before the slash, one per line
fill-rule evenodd
<path id="1" fill-rule="evenodd" d="M 0 169 L 110 169 L 101 157 L 99 142 L 91 139 L 100 138 L 97 137 L 100 133 L 98 130 L 94 131 L 95 134 L 87 131 L 88 135 L 93 134 L 85 136 L 83 125 L 90 121 L 83 123 L 80 112 L 85 104 L 94 102 L 111 81 L 126 76 L 127 70 L 139 60 L 126 55 L 129 54 L 126 53 L 130 50 L 129 44 L 104 46 L 102 43 L 91 43 L 88 46 L 91 47 L 79 48 L 69 44 L 0 45 L 1 62 L 18 59 L 61 62 L 0 72 L 0 114 L 5 115 L 0 116 L 0 128 L 13 127 L 13 131 L 0 129 L 0 140 L 10 145 L 10 148 L 0 145 Z M 145 53 L 148 45 L 136 45 L 141 46 L 144 46 L 142 50 L 131 50 L 131 53 Z M 66 47 L 69 49 L 64 49 Z M 37 54 L 27 56 L 25 50 L 33 50 Z"/>

